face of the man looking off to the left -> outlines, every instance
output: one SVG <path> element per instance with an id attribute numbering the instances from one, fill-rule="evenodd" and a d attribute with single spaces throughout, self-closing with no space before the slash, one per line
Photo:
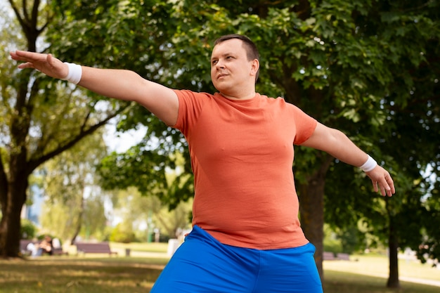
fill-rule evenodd
<path id="1" fill-rule="evenodd" d="M 257 67 L 257 69 L 255 68 Z M 258 66 L 247 59 L 240 39 L 228 39 L 216 44 L 211 56 L 211 79 L 214 87 L 226 95 L 240 95 L 243 89 L 254 89 Z"/>

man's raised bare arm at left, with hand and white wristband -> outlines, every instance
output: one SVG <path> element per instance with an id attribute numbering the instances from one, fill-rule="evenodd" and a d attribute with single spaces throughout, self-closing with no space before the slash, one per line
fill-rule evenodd
<path id="1" fill-rule="evenodd" d="M 79 67 L 79 65 L 72 67 L 51 54 L 28 51 L 11 52 L 11 58 L 24 62 L 18 65 L 21 69 L 34 68 L 57 79 L 66 79 L 72 75 L 73 69 L 79 79 L 76 81 L 79 86 L 109 98 L 133 100 L 150 110 L 167 125 L 174 125 L 177 121 L 179 100 L 176 93 L 166 86 L 143 79 L 136 72 Z"/>

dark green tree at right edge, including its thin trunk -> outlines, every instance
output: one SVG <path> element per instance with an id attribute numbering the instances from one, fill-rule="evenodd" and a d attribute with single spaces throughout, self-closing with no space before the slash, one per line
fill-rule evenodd
<path id="1" fill-rule="evenodd" d="M 344 225 L 344 222 L 354 220 L 351 211 L 355 210 L 359 217 L 366 219 L 389 247 L 390 274 L 387 285 L 399 287 L 399 249 L 410 247 L 420 252 L 419 256 L 424 261 L 422 254 L 425 251 L 420 247 L 427 247 L 429 257 L 439 257 L 436 252 L 438 242 L 434 241 L 437 233 L 432 229 L 440 224 L 436 217 L 438 207 L 432 205 L 438 196 L 434 186 L 438 184 L 435 174 L 439 170 L 440 153 L 439 106 L 436 103 L 440 71 L 439 13 L 435 8 L 438 4 L 434 1 L 382 4 L 375 6 L 375 9 L 383 11 L 380 22 L 378 18 L 368 18 L 363 27 L 370 28 L 365 30 L 365 34 L 386 40 L 387 36 L 394 36 L 393 32 L 387 27 L 383 27 L 382 31 L 378 27 L 382 22 L 389 23 L 389 27 L 399 32 L 399 37 L 389 42 L 394 42 L 395 48 L 391 52 L 400 52 L 401 61 L 396 63 L 395 75 L 385 84 L 387 92 L 380 101 L 382 110 L 387 114 L 382 131 L 377 132 L 365 126 L 359 128 L 359 133 L 375 138 L 377 148 L 373 148 L 374 153 L 393 158 L 387 159 L 387 162 L 399 188 L 396 194 L 398 200 L 365 200 L 363 190 L 358 189 L 359 186 L 351 182 L 351 178 L 347 178 L 346 174 L 351 170 L 335 164 L 337 174 L 330 174 L 334 189 L 327 188 L 326 205 L 336 212 L 326 216 L 332 223 Z M 423 174 L 427 169 L 431 170 L 429 176 L 434 174 L 434 177 L 428 178 Z M 341 198 L 339 194 L 344 186 L 360 190 L 361 193 L 356 199 Z"/>

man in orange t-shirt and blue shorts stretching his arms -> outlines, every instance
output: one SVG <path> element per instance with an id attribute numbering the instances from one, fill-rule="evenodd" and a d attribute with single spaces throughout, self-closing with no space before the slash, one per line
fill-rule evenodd
<path id="1" fill-rule="evenodd" d="M 186 137 L 195 178 L 193 231 L 152 292 L 322 292 L 315 248 L 299 226 L 293 145 L 329 152 L 392 196 L 389 173 L 341 131 L 282 98 L 255 92 L 259 54 L 241 35 L 216 40 L 211 78 L 218 93 L 168 89 L 127 70 L 63 63 L 12 52 L 35 68 L 103 96 L 134 100 Z"/>

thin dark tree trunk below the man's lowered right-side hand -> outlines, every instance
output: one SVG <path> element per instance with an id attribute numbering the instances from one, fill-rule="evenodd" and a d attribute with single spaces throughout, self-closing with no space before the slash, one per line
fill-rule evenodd
<path id="1" fill-rule="evenodd" d="M 388 200 L 387 200 L 388 203 Z M 389 217 L 389 235 L 388 235 L 388 250 L 389 250 L 389 276 L 387 281 L 387 287 L 399 288 L 399 259 L 397 253 L 399 250 L 399 237 L 396 233 L 396 226 L 394 223 L 394 217 L 390 213 L 389 204 L 387 204 L 388 217 Z"/>

